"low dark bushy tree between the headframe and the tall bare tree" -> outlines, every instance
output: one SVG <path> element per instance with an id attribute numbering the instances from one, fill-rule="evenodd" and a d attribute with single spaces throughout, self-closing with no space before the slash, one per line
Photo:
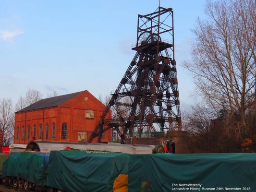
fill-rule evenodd
<path id="1" fill-rule="evenodd" d="M 226 108 L 219 108 L 216 113 L 211 103 L 204 100 L 191 106 L 190 111 L 183 112 L 185 148 L 192 153 L 241 152 L 236 132 L 225 129 L 230 117 Z"/>

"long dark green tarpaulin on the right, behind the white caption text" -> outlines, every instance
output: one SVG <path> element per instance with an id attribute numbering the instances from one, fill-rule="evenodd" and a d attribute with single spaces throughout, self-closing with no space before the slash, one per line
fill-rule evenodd
<path id="1" fill-rule="evenodd" d="M 256 192 L 256 153 L 130 155 L 128 191 L 147 186 L 150 192 Z"/>

